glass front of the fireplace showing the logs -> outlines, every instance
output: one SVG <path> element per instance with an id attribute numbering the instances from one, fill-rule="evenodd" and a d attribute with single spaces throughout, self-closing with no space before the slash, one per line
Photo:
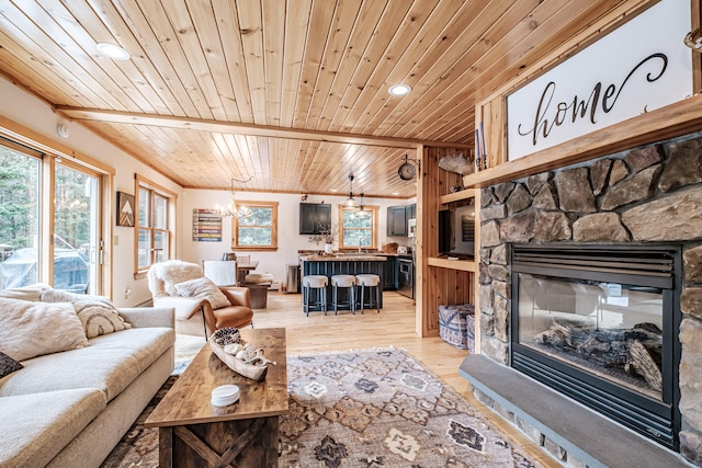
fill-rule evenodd
<path id="1" fill-rule="evenodd" d="M 663 290 L 519 273 L 519 343 L 660 400 Z"/>

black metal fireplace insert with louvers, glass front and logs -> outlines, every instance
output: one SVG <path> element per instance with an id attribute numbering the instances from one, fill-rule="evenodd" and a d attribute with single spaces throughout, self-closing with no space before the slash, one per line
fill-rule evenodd
<path id="1" fill-rule="evenodd" d="M 512 244 L 511 366 L 678 450 L 680 258 L 675 246 Z"/>

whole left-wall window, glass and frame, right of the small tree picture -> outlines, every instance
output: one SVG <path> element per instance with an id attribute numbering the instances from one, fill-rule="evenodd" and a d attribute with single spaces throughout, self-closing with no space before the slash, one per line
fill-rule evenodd
<path id="1" fill-rule="evenodd" d="M 176 195 L 137 176 L 137 273 L 147 271 L 154 263 L 169 260 L 172 254 Z"/>

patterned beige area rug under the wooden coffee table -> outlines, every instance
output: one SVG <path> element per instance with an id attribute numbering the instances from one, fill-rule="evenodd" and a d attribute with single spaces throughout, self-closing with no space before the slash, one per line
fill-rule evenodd
<path id="1" fill-rule="evenodd" d="M 280 467 L 541 467 L 404 351 L 288 356 L 287 370 Z M 176 378 L 103 467 L 158 466 L 158 432 L 141 423 Z"/>

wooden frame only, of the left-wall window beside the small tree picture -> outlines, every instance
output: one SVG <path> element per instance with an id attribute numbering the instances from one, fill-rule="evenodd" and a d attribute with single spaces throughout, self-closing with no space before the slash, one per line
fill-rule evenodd
<path id="1" fill-rule="evenodd" d="M 140 202 L 141 202 L 141 191 L 148 192 L 148 226 L 140 225 Z M 178 201 L 178 195 L 168 189 L 146 179 L 138 174 L 134 176 L 134 205 L 136 209 L 136 215 L 134 217 L 134 277 L 140 278 L 146 276 L 146 273 L 149 271 L 151 265 L 158 263 L 156 259 L 157 250 L 165 250 L 167 252 L 166 256 L 162 260 L 169 260 L 174 258 L 176 253 L 176 217 L 177 209 L 176 203 Z M 167 202 L 166 206 L 166 228 L 156 228 L 156 220 L 154 219 L 156 215 L 155 198 L 156 197 L 165 198 Z M 139 265 L 139 231 L 148 231 L 149 232 L 149 258 L 147 265 Z M 157 233 L 165 232 L 168 235 L 168 246 L 165 249 L 155 249 L 154 240 Z"/>

